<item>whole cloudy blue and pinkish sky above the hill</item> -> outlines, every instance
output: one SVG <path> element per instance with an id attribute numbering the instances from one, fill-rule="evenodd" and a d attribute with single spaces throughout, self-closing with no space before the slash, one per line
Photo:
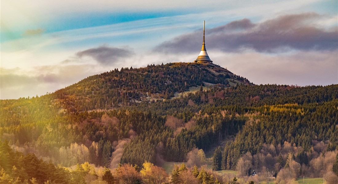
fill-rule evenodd
<path id="1" fill-rule="evenodd" d="M 215 64 L 255 84 L 338 83 L 337 0 L 0 0 L 0 99 L 122 67 Z"/>

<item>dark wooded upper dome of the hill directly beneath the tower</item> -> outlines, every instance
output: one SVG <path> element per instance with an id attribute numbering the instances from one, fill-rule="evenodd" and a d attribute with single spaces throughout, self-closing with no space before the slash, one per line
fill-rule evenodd
<path id="1" fill-rule="evenodd" d="M 87 77 L 50 95 L 53 104 L 70 111 L 112 109 L 141 101 L 169 99 L 191 87 L 217 84 L 230 87 L 250 82 L 211 64 L 169 63 L 122 68 Z M 252 84 L 250 84 L 252 85 Z"/>

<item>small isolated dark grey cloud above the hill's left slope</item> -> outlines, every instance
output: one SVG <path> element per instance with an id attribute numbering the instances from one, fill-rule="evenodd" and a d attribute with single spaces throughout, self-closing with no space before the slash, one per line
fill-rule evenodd
<path id="1" fill-rule="evenodd" d="M 94 58 L 100 64 L 109 65 L 134 55 L 134 52 L 126 48 L 101 46 L 77 52 L 76 55 L 80 58 L 89 56 Z"/>

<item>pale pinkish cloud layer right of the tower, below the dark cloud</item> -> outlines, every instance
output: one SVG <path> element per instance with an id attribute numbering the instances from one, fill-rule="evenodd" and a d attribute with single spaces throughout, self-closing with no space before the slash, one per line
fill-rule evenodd
<path id="1" fill-rule="evenodd" d="M 213 60 L 255 84 L 338 84 L 338 50 L 286 54 L 216 53 Z"/>

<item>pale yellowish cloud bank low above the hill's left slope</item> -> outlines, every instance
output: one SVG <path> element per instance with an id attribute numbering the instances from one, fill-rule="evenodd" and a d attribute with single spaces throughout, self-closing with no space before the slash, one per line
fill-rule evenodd
<path id="1" fill-rule="evenodd" d="M 105 71 L 97 64 L 44 65 L 31 70 L 1 68 L 0 99 L 44 95 Z"/>

